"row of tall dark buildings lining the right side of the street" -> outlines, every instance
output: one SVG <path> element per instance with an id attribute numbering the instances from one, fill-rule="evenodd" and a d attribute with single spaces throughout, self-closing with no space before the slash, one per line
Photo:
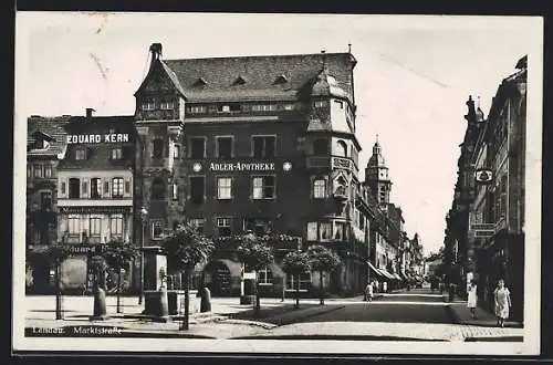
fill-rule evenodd
<path id="1" fill-rule="evenodd" d="M 523 319 L 524 161 L 526 56 L 505 77 L 487 118 L 469 98 L 468 128 L 453 206 L 447 217 L 450 280 L 476 279 L 483 305 L 492 304 L 499 279 L 512 299 L 512 319 Z"/>

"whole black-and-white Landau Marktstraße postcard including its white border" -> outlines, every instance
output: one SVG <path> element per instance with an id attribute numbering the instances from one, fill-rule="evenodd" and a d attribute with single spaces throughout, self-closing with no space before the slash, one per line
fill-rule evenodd
<path id="1" fill-rule="evenodd" d="M 539 17 L 17 12 L 12 348 L 538 355 L 542 49 Z"/>

